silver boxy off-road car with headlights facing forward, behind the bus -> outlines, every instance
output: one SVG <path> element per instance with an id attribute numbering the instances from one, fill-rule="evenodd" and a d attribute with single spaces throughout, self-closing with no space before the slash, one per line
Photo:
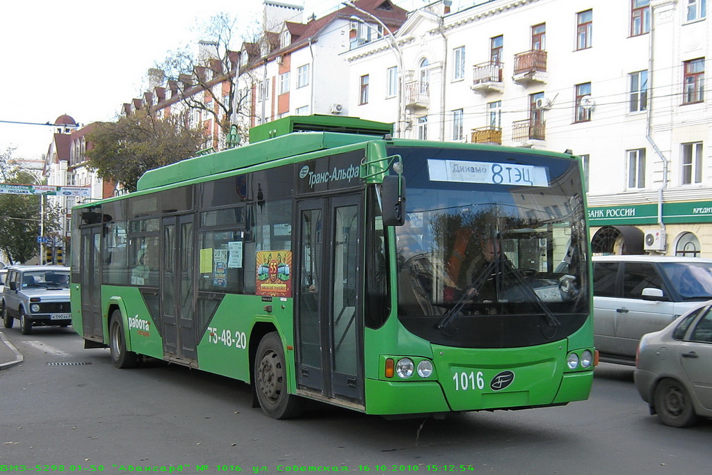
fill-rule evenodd
<path id="1" fill-rule="evenodd" d="M 63 266 L 11 266 L 2 292 L 5 328 L 20 320 L 23 335 L 33 326 L 72 323 L 69 303 L 69 268 Z"/>

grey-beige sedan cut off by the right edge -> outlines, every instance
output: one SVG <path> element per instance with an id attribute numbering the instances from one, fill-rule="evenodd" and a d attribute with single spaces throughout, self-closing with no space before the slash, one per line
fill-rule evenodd
<path id="1" fill-rule="evenodd" d="M 712 301 L 640 340 L 635 385 L 663 424 L 712 417 Z"/>

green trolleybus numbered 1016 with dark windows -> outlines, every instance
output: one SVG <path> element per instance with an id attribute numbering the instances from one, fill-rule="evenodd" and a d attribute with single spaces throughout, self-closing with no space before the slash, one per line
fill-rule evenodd
<path id="1" fill-rule="evenodd" d="M 440 417 L 587 399 L 576 157 L 393 139 L 356 118 L 260 127 L 73 209 L 85 347 L 251 383 L 277 419 L 305 400 Z"/>

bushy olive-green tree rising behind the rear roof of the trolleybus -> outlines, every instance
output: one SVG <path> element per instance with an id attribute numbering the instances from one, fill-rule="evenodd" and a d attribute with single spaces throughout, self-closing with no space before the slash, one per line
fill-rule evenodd
<path id="1" fill-rule="evenodd" d="M 200 150 L 201 130 L 186 123 L 183 115 L 161 119 L 147 110 L 100 122 L 87 137 L 88 166 L 133 192 L 147 170 L 185 160 Z"/>

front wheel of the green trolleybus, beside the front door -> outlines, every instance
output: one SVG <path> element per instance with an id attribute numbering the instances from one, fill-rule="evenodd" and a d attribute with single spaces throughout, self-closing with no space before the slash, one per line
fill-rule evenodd
<path id="1" fill-rule="evenodd" d="M 273 419 L 290 419 L 303 412 L 303 400 L 287 392 L 282 340 L 277 332 L 263 336 L 257 347 L 254 385 L 262 411 Z"/>

